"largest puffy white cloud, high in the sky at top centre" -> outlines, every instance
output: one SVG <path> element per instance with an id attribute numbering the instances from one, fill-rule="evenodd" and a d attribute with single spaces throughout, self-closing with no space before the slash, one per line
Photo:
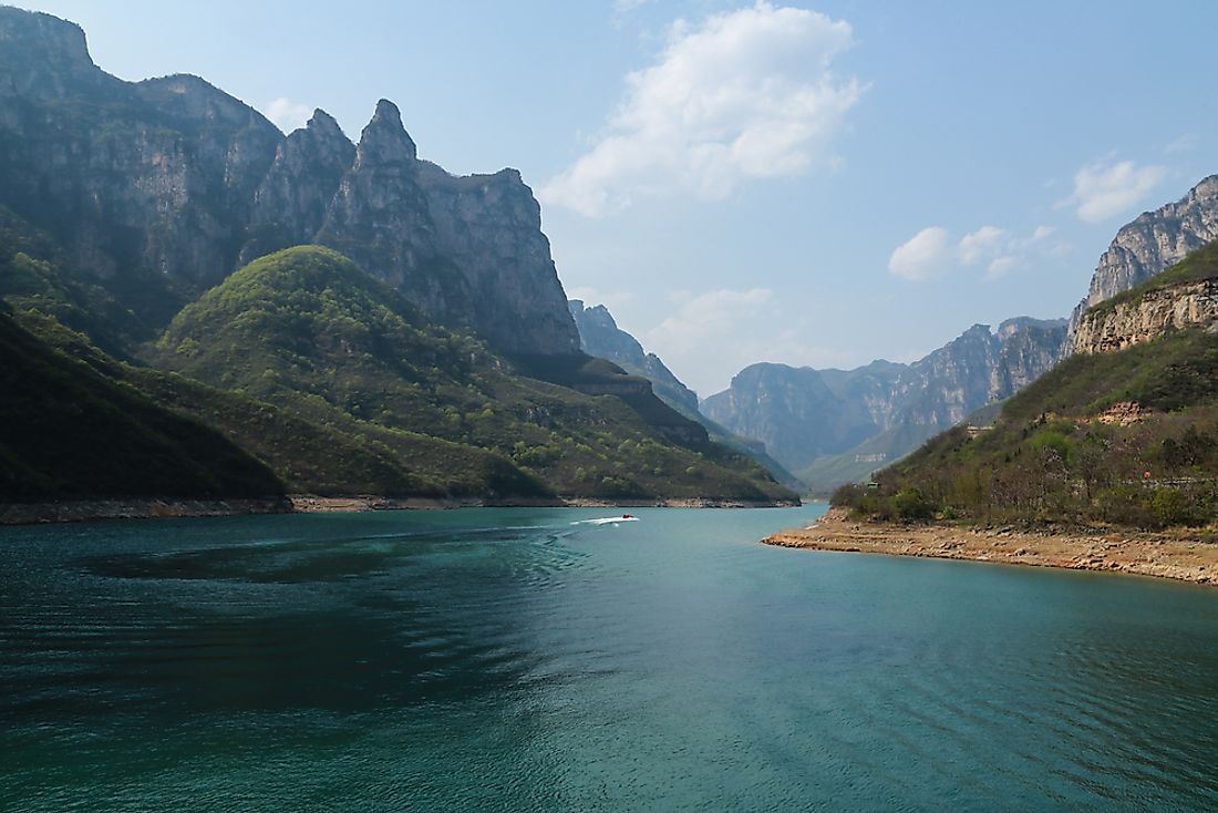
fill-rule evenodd
<path id="1" fill-rule="evenodd" d="M 723 199 L 743 180 L 833 162 L 829 144 L 864 93 L 829 71 L 849 23 L 755 6 L 677 21 L 659 61 L 626 77 L 603 135 L 540 197 L 591 217 L 641 196 Z"/>

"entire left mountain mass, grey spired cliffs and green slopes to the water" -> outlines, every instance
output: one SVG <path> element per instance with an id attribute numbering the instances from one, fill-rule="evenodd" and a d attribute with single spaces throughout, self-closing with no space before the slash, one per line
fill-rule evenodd
<path id="1" fill-rule="evenodd" d="M 138 423 L 212 439 L 157 446 L 119 422 L 106 489 L 23 479 L 85 442 L 51 410 L 0 441 L 0 502 L 164 496 L 140 472 L 167 449 L 208 497 L 794 499 L 581 351 L 514 169 L 420 160 L 385 100 L 356 143 L 324 111 L 284 135 L 197 77 L 117 79 L 76 24 L 2 6 L 0 299 L 6 353 L 37 346 L 45 371 L 135 399 Z M 23 408 L 55 380 L 30 378 Z"/>

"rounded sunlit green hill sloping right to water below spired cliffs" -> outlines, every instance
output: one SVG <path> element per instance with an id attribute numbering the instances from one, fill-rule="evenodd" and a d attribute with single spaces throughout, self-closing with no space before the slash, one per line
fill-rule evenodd
<path id="1" fill-rule="evenodd" d="M 354 438 L 404 495 L 790 499 L 650 384 L 582 355 L 497 355 L 322 246 L 261 257 L 179 313 L 149 360 Z"/>

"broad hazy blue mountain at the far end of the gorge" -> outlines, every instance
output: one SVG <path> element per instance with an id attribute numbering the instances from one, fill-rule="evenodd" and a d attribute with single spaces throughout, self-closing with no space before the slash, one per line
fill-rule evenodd
<path id="1" fill-rule="evenodd" d="M 977 324 L 912 364 L 851 371 L 761 363 L 703 411 L 765 442 L 814 490 L 867 477 L 927 438 L 1034 380 L 1057 360 L 1065 321 Z"/>

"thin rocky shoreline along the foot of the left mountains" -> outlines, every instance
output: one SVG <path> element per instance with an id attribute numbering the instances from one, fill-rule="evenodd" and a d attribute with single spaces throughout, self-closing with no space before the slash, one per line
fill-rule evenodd
<path id="1" fill-rule="evenodd" d="M 63 502 L 0 503 L 0 527 L 61 524 L 100 519 L 166 519 L 186 517 L 242 517 L 253 514 L 342 513 L 368 511 L 448 511 L 453 508 L 783 508 L 790 501 L 750 500 L 485 500 L 440 497 L 322 497 L 292 494 L 266 500 L 72 500 Z"/>

